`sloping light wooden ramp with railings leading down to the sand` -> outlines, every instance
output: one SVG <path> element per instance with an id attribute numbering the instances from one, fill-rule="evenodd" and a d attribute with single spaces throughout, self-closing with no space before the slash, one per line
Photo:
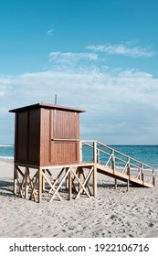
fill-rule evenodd
<path id="1" fill-rule="evenodd" d="M 130 184 L 142 187 L 155 186 L 152 166 L 97 141 L 81 142 L 82 155 L 85 150 L 87 155 L 89 153 L 92 156 L 91 162 L 95 163 L 98 173 L 115 179 L 115 187 L 117 187 L 117 180 L 126 182 L 128 189 Z"/>

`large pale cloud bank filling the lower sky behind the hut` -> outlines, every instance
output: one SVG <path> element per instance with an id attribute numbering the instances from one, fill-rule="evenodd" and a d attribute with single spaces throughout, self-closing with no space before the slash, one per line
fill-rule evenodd
<path id="1" fill-rule="evenodd" d="M 57 93 L 58 104 L 87 110 L 81 114 L 83 139 L 107 144 L 158 143 L 158 132 L 156 136 L 152 133 L 158 126 L 158 80 L 151 74 L 134 69 L 47 70 L 4 77 L 0 88 L 2 85 L 5 94 L 1 94 L 0 109 L 5 118 L 12 108 L 41 101 L 54 103 Z M 145 136 L 150 140 L 143 141 Z"/>

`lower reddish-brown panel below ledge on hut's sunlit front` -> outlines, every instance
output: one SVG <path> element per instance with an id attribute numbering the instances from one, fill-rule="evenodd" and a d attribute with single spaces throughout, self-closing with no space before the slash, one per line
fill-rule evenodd
<path id="1" fill-rule="evenodd" d="M 51 163 L 74 164 L 79 163 L 79 142 L 51 142 Z"/>

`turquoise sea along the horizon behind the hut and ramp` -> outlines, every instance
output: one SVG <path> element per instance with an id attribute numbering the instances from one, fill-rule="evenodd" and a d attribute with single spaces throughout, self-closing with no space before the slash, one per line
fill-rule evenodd
<path id="1" fill-rule="evenodd" d="M 151 165 L 158 169 L 158 145 L 110 145 L 119 152 L 129 155 L 136 160 L 141 161 L 146 165 Z M 0 159 L 13 160 L 14 159 L 13 145 L 0 145 Z M 100 163 L 101 163 L 100 155 Z M 91 161 L 91 153 L 87 147 L 83 147 L 83 160 Z"/>

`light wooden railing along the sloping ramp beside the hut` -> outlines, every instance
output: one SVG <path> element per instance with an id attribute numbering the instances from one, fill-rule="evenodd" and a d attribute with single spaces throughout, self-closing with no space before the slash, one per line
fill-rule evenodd
<path id="1" fill-rule="evenodd" d="M 97 141 L 80 141 L 80 160 L 93 162 L 155 186 L 154 168 Z"/>

